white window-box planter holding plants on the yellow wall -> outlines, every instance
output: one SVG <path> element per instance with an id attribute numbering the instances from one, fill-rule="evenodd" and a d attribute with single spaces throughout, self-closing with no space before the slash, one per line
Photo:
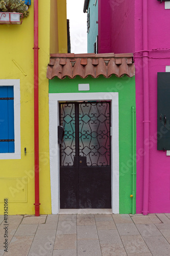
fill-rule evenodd
<path id="1" fill-rule="evenodd" d="M 21 20 L 20 20 L 21 17 Z M 0 12 L 0 24 L 21 24 L 22 13 L 19 12 Z"/>

